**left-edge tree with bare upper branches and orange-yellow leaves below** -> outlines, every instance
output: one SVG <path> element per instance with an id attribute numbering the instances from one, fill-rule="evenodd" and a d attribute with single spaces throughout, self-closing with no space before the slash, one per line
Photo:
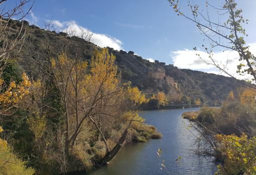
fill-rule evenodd
<path id="1" fill-rule="evenodd" d="M 32 9 L 29 1 L 20 1 L 14 7 L 8 9 L 5 8 L 9 1 L 0 2 L 0 113 L 1 115 L 10 115 L 13 109 L 18 102 L 29 93 L 28 88 L 31 86 L 27 75 L 23 73 L 22 82 L 15 82 L 11 80 L 8 84 L 5 82 L 5 77 L 3 77 L 3 71 L 9 65 L 9 63 L 18 56 L 20 49 L 23 46 L 25 35 L 25 30 L 23 29 L 23 22 L 20 30 L 13 31 L 13 22 L 12 18 L 19 18 L 23 20 Z M 29 11 L 24 11 L 24 8 L 28 6 Z M 14 34 L 14 39 L 10 40 L 9 35 Z M 18 83 L 18 84 L 17 84 Z"/>

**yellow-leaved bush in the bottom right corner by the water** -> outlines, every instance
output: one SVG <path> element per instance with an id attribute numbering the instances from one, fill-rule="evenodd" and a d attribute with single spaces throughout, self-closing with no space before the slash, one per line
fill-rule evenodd
<path id="1" fill-rule="evenodd" d="M 243 133 L 241 137 L 217 134 L 215 138 L 225 157 L 224 164 L 218 166 L 216 174 L 256 174 L 256 137 L 248 139 Z"/>

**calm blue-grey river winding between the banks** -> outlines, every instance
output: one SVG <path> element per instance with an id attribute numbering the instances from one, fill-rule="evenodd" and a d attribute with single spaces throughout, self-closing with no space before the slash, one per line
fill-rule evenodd
<path id="1" fill-rule="evenodd" d="M 110 164 L 91 173 L 76 175 L 214 174 L 214 158 L 193 152 L 196 132 L 188 127 L 189 121 L 181 117 L 183 112 L 192 110 L 198 108 L 141 112 L 146 122 L 156 126 L 163 138 L 125 146 Z M 162 150 L 161 157 L 157 155 L 158 148 Z M 179 156 L 182 158 L 176 161 Z M 161 170 L 163 160 L 168 172 Z"/>

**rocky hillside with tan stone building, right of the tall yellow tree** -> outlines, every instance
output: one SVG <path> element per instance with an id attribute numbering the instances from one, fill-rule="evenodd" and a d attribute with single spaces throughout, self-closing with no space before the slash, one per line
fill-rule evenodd
<path id="1" fill-rule="evenodd" d="M 151 63 L 131 51 L 109 51 L 116 56 L 123 79 L 133 82 L 145 93 L 182 93 L 191 99 L 199 98 L 207 104 L 220 104 L 231 90 L 236 91 L 242 86 L 241 81 L 233 78 L 179 69 L 158 61 Z"/>

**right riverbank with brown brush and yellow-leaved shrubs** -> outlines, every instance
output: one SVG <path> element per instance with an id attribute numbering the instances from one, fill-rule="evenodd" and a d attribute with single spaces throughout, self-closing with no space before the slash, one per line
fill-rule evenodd
<path id="1" fill-rule="evenodd" d="M 221 161 L 216 174 L 255 174 L 255 114 L 254 101 L 244 103 L 232 97 L 221 108 L 203 107 L 182 117 L 198 131 L 198 153 Z"/>

